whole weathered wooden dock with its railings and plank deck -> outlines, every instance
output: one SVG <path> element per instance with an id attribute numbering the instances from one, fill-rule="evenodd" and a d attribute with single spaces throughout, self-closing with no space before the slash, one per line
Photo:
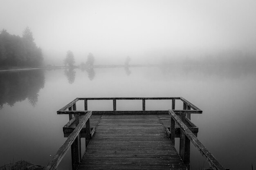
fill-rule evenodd
<path id="1" fill-rule="evenodd" d="M 116 100 L 130 99 L 142 100 L 142 110 L 116 110 Z M 150 99 L 171 100 L 170 109 L 146 110 Z M 79 100 L 84 100 L 84 110 L 76 110 Z M 88 100 L 112 100 L 113 111 L 88 111 Z M 175 100 L 183 102 L 182 110 L 175 110 Z M 191 143 L 214 170 L 225 170 L 198 140 L 198 127 L 190 121 L 191 114 L 202 110 L 182 97 L 76 98 L 57 113 L 69 115 L 63 127 L 67 140 L 45 170 L 55 170 L 70 147 L 73 170 L 189 170 Z M 179 152 L 175 137 L 180 138 Z M 86 139 L 84 154 L 81 138 Z"/>

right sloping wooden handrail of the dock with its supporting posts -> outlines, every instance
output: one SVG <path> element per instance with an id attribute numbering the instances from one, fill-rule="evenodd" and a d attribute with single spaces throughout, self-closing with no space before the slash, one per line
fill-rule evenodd
<path id="1" fill-rule="evenodd" d="M 186 150 L 187 150 L 186 147 L 190 147 L 190 141 L 191 141 L 192 144 L 195 146 L 195 148 L 197 148 L 200 151 L 202 156 L 206 158 L 211 168 L 213 168 L 214 170 L 226 170 L 216 160 L 216 158 L 211 154 L 211 152 L 209 152 L 209 150 L 207 150 L 207 148 L 199 141 L 199 139 L 193 134 L 193 132 L 191 132 L 191 130 L 184 124 L 183 122 L 184 120 L 182 121 L 182 119 L 185 119 L 185 115 L 181 115 L 182 119 L 180 119 L 180 117 L 178 117 L 173 110 L 168 110 L 168 112 L 171 116 L 171 141 L 173 142 L 173 144 L 175 143 L 175 140 L 174 140 L 175 123 L 180 127 L 184 135 L 186 135 L 185 138 L 182 137 L 182 135 L 180 137 L 180 140 L 182 140 L 181 144 L 184 143 L 182 144 L 183 146 L 181 146 L 180 144 L 180 156 L 182 157 L 182 160 L 184 161 L 184 163 L 186 164 L 186 161 L 189 162 L 189 160 L 187 160 L 189 159 L 189 153 L 186 153 Z"/>

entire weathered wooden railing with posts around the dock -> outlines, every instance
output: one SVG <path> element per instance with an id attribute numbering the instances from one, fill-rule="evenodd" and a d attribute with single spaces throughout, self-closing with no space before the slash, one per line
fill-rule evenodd
<path id="1" fill-rule="evenodd" d="M 79 100 L 84 100 L 84 110 L 76 110 L 76 102 Z M 112 100 L 113 111 L 88 111 L 88 100 Z M 132 110 L 132 111 L 120 111 L 117 110 L 117 100 L 141 100 L 142 110 Z M 146 110 L 146 100 L 171 100 L 170 110 Z M 175 101 L 181 100 L 183 102 L 183 110 L 175 109 Z M 170 130 L 166 128 L 168 137 L 170 137 L 173 145 L 175 144 L 175 123 L 180 127 L 180 157 L 184 161 L 185 165 L 189 169 L 190 166 L 190 141 L 194 146 L 200 151 L 204 158 L 208 161 L 211 168 L 214 170 L 228 170 L 223 168 L 222 165 L 216 160 L 215 157 L 205 148 L 205 146 L 196 137 L 197 134 L 193 134 L 189 127 L 184 123 L 185 121 L 193 126 L 195 126 L 191 120 L 191 114 L 202 114 L 202 110 L 193 105 L 191 102 L 187 101 L 183 97 L 86 97 L 86 98 L 76 98 L 63 108 L 57 111 L 57 114 L 68 114 L 69 124 L 75 122 L 76 128 L 68 136 L 65 143 L 58 150 L 56 155 L 50 161 L 45 170 L 55 170 L 60 163 L 61 159 L 66 154 L 67 150 L 71 146 L 72 151 L 72 168 L 75 169 L 81 160 L 81 135 L 80 131 L 83 126 L 86 126 L 86 146 L 90 141 L 94 128 L 90 128 L 90 116 L 92 114 L 168 114 L 171 116 Z M 79 120 L 80 115 L 85 114 Z M 180 115 L 177 116 L 177 115 Z"/>

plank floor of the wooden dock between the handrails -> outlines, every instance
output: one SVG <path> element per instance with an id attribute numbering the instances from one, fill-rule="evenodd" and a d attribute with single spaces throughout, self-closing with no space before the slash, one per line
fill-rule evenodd
<path id="1" fill-rule="evenodd" d="M 186 170 L 157 115 L 102 115 L 77 170 Z"/>

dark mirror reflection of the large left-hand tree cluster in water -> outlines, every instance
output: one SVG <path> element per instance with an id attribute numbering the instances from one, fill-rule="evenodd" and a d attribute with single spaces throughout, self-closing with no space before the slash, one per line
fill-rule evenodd
<path id="1" fill-rule="evenodd" d="M 32 106 L 38 101 L 38 92 L 45 86 L 43 70 L 0 73 L 0 109 L 4 104 L 29 100 Z"/>

